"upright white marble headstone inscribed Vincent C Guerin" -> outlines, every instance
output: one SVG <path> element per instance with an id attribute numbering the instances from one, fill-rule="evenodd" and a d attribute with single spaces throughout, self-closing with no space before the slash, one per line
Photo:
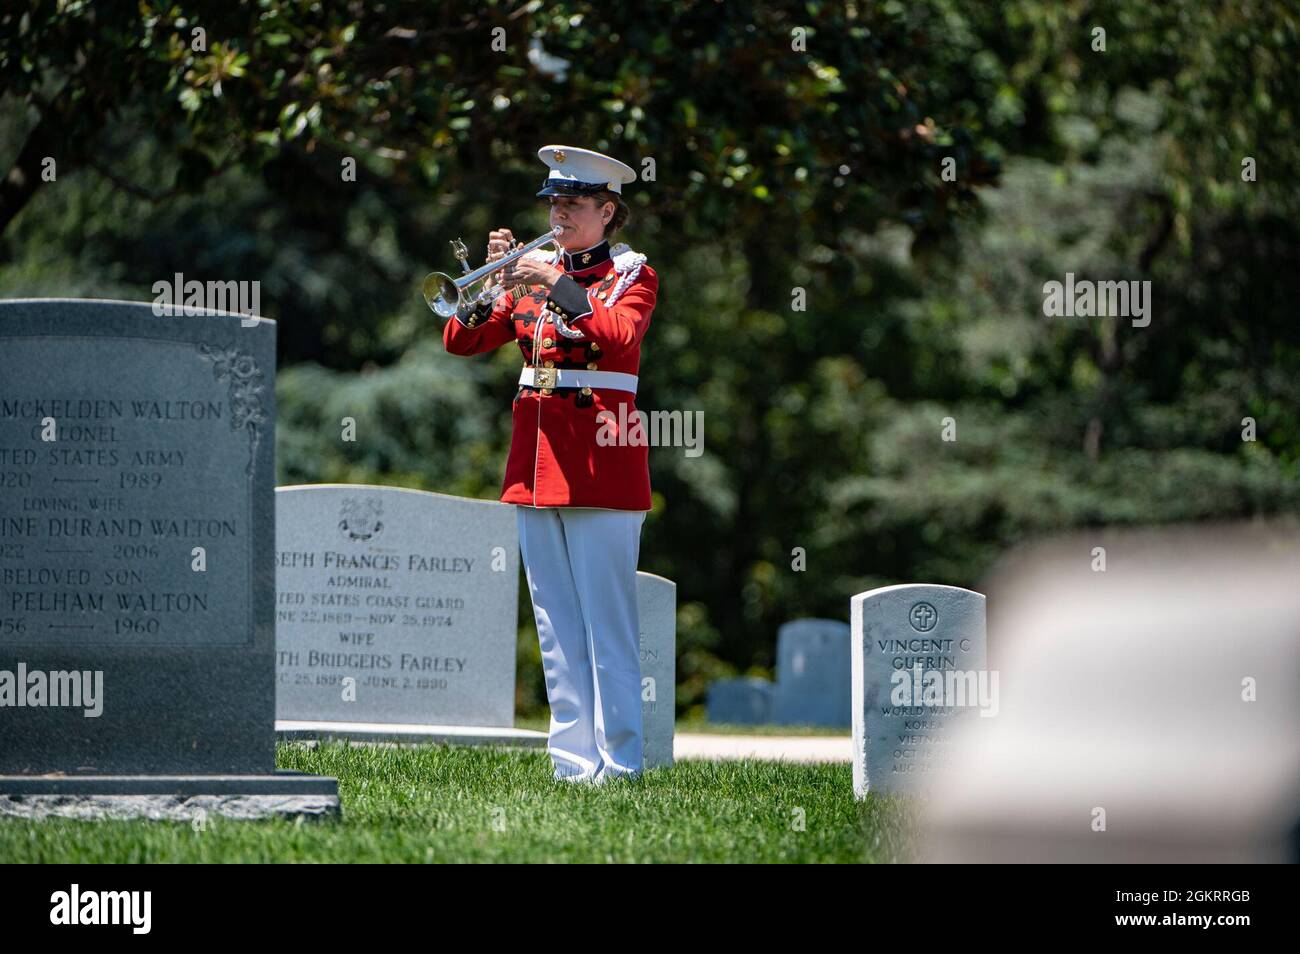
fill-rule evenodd
<path id="1" fill-rule="evenodd" d="M 979 707 L 933 704 L 922 686 L 961 677 L 966 690 L 972 675 L 978 685 L 979 673 L 987 685 L 984 597 L 958 586 L 904 584 L 859 593 L 849 603 L 853 793 L 924 794 L 948 755 L 954 724 L 978 716 Z M 896 673 L 911 677 L 910 704 L 896 704 Z"/>

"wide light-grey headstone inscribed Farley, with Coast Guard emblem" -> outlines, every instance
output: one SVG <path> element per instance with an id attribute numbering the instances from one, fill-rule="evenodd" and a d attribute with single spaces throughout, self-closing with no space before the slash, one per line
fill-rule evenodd
<path id="1" fill-rule="evenodd" d="M 276 491 L 278 720 L 515 723 L 515 508 L 422 490 Z"/>

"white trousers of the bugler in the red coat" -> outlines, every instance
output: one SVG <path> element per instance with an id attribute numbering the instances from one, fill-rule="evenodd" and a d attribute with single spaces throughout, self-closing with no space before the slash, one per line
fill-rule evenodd
<path id="1" fill-rule="evenodd" d="M 555 779 L 640 775 L 638 511 L 516 507 L 537 619 Z"/>

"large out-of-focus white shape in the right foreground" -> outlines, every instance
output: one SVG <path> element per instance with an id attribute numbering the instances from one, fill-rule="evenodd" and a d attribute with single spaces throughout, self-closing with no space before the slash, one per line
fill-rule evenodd
<path id="1" fill-rule="evenodd" d="M 954 734 L 924 860 L 1296 860 L 1300 526 L 1098 530 L 980 589 L 1001 712 Z"/>

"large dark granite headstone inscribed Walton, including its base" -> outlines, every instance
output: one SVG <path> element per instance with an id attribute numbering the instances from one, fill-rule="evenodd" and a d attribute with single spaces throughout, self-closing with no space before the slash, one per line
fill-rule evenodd
<path id="1" fill-rule="evenodd" d="M 274 377 L 266 320 L 0 302 L 0 812 L 337 810 L 276 769 Z"/>

